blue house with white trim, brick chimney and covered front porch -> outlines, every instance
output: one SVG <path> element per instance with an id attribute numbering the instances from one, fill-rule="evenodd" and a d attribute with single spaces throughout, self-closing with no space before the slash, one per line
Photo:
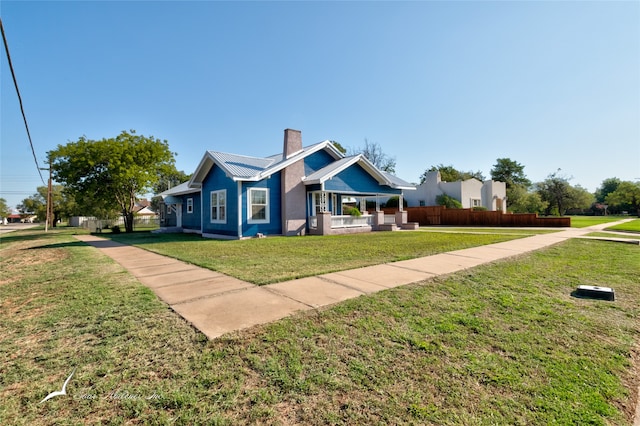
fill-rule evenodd
<path id="1" fill-rule="evenodd" d="M 158 194 L 160 226 L 232 239 L 396 229 L 410 226 L 406 212 L 385 218 L 380 200 L 398 196 L 402 206 L 406 190 L 415 187 L 363 155 L 345 157 L 330 141 L 303 147 L 301 132 L 286 129 L 270 157 L 205 152 L 191 180 Z M 344 214 L 354 207 L 360 216 Z"/>

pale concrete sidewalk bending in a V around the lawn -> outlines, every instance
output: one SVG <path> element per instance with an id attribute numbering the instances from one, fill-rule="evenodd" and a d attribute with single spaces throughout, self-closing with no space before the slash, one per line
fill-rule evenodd
<path id="1" fill-rule="evenodd" d="M 556 233 L 266 286 L 256 286 L 94 235 L 75 237 L 102 250 L 120 263 L 175 312 L 209 339 L 214 339 L 222 334 L 275 321 L 298 311 L 507 259 L 569 238 L 584 237 L 590 232 L 612 225 L 613 223 L 608 223 L 582 229 L 564 228 Z"/>

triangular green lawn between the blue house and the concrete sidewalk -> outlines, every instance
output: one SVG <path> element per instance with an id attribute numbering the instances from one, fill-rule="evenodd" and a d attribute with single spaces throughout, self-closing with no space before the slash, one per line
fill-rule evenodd
<path id="1" fill-rule="evenodd" d="M 194 234 L 132 233 L 103 236 L 259 285 L 522 237 L 512 234 L 427 232 L 375 232 L 236 241 L 203 239 Z"/>

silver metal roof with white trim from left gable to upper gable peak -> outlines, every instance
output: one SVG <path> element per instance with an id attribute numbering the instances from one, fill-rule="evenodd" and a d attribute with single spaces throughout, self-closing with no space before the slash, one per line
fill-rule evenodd
<path id="1" fill-rule="evenodd" d="M 189 187 L 199 188 L 214 165 L 220 167 L 227 177 L 234 181 L 259 181 L 321 150 L 326 150 L 336 160 L 343 157 L 343 154 L 328 140 L 302 148 L 289 158 L 284 158 L 282 153 L 261 158 L 207 151 L 191 177 Z"/>

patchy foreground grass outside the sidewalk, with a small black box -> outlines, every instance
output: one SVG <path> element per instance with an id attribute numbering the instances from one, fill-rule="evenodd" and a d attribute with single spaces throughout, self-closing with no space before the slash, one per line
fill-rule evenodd
<path id="1" fill-rule="evenodd" d="M 630 425 L 638 256 L 572 240 L 207 341 L 68 233 L 3 237 L 0 424 Z"/>

